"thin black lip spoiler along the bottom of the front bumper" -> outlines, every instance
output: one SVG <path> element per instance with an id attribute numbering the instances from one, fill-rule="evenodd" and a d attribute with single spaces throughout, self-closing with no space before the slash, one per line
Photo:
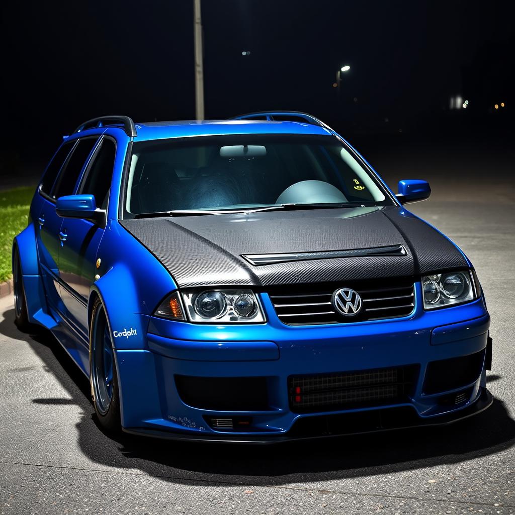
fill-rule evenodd
<path id="1" fill-rule="evenodd" d="M 254 435 L 230 435 L 230 434 L 216 434 L 216 435 L 202 435 L 195 434 L 182 434 L 182 433 L 172 433 L 168 431 L 159 431 L 159 430 L 153 430 L 148 429 L 145 427 L 131 427 L 131 428 L 123 428 L 123 431 L 125 433 L 131 434 L 131 435 L 139 435 L 139 436 L 149 436 L 153 438 L 161 438 L 161 439 L 168 439 L 168 440 L 191 440 L 196 442 L 225 442 L 225 443 L 249 443 L 249 444 L 272 444 L 272 443 L 281 443 L 281 442 L 288 442 L 288 441 L 299 441 L 299 440 L 313 440 L 316 438 L 329 438 L 329 437 L 337 437 L 337 436 L 351 436 L 351 435 L 358 435 L 358 434 L 366 434 L 366 433 L 377 433 L 377 432 L 384 432 L 384 431 L 394 431 L 394 430 L 400 430 L 400 429 L 409 429 L 413 427 L 428 427 L 428 426 L 444 426 L 453 424 L 454 422 L 458 422 L 460 420 L 467 419 L 469 417 L 472 417 L 474 415 L 477 415 L 487 409 L 491 406 L 493 402 L 492 394 L 486 389 L 482 388 L 481 393 L 479 395 L 479 398 L 477 401 L 475 401 L 470 406 L 460 409 L 459 411 L 455 411 L 453 413 L 449 413 L 447 415 L 441 415 L 439 417 L 432 417 L 430 419 L 423 419 L 420 418 L 415 413 L 414 408 L 407 408 L 411 410 L 413 413 L 415 413 L 415 417 L 411 417 L 411 420 L 406 422 L 405 419 L 401 418 L 399 420 L 399 425 L 395 425 L 394 423 L 391 425 L 386 425 L 384 420 L 389 420 L 390 423 L 392 420 L 396 418 L 396 415 L 400 408 L 387 408 L 387 409 L 377 409 L 373 410 L 379 417 L 377 420 L 381 420 L 380 426 L 375 427 L 361 427 L 359 430 L 355 430 L 352 428 L 350 431 L 338 431 L 338 430 L 331 430 L 330 424 L 328 424 L 328 419 L 330 417 L 340 417 L 341 415 L 327 415 L 327 416 L 320 416 L 320 417 L 309 417 L 310 421 L 317 422 L 316 419 L 319 419 L 321 431 L 318 434 L 308 434 L 303 433 L 302 431 L 296 431 L 295 430 L 295 424 L 294 427 L 288 431 L 288 433 L 285 433 L 283 435 L 266 435 L 263 433 L 256 433 Z M 403 408 L 405 409 L 405 408 Z M 373 412 L 368 412 L 373 413 Z M 385 415 L 388 415 L 385 417 Z M 307 420 L 304 419 L 304 420 Z M 346 426 L 346 424 L 343 424 Z M 348 426 L 346 426 L 348 427 Z"/>

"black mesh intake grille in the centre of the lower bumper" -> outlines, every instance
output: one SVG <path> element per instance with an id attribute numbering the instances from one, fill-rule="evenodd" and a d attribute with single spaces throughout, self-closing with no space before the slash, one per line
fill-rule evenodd
<path id="1" fill-rule="evenodd" d="M 295 413 L 332 411 L 407 402 L 419 366 L 288 377 L 290 409 Z"/>

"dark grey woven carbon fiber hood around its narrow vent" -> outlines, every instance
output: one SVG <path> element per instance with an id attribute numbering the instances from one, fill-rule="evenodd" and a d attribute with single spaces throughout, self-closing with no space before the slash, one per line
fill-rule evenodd
<path id="1" fill-rule="evenodd" d="M 447 238 L 402 208 L 272 211 L 120 220 L 181 287 L 319 283 L 467 266 Z M 320 252 L 401 245 L 405 255 Z M 315 252 L 312 259 L 255 266 L 243 255 Z"/>

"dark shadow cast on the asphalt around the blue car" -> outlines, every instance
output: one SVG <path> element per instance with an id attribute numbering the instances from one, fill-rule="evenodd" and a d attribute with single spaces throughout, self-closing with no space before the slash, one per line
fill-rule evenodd
<path id="1" fill-rule="evenodd" d="M 4 316 L 0 332 L 24 339 L 66 390 L 63 399 L 32 402 L 49 409 L 54 404 L 79 406 L 83 415 L 76 424 L 78 447 L 101 466 L 139 469 L 173 483 L 281 485 L 456 464 L 502 452 L 515 443 L 515 421 L 498 399 L 483 413 L 449 426 L 307 442 L 262 446 L 113 437 L 96 422 L 89 381 L 54 337 L 46 332 L 23 335 L 13 324 L 13 310 Z"/>

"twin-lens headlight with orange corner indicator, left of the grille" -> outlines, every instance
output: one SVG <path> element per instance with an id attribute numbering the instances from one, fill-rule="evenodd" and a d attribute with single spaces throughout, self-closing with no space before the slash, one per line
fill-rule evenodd
<path id="1" fill-rule="evenodd" d="M 187 291 L 181 296 L 175 291 L 159 305 L 155 315 L 174 320 L 186 320 L 187 315 L 192 322 L 265 321 L 258 297 L 248 289 Z"/>

